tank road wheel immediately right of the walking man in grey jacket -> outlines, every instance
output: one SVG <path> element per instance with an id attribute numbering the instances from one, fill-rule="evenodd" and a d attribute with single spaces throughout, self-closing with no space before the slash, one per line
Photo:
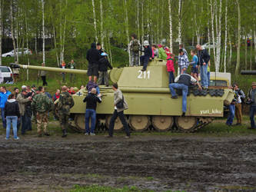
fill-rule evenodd
<path id="1" fill-rule="evenodd" d="M 149 124 L 149 117 L 146 115 L 130 115 L 129 117 L 129 125 L 135 131 L 146 130 Z"/>

